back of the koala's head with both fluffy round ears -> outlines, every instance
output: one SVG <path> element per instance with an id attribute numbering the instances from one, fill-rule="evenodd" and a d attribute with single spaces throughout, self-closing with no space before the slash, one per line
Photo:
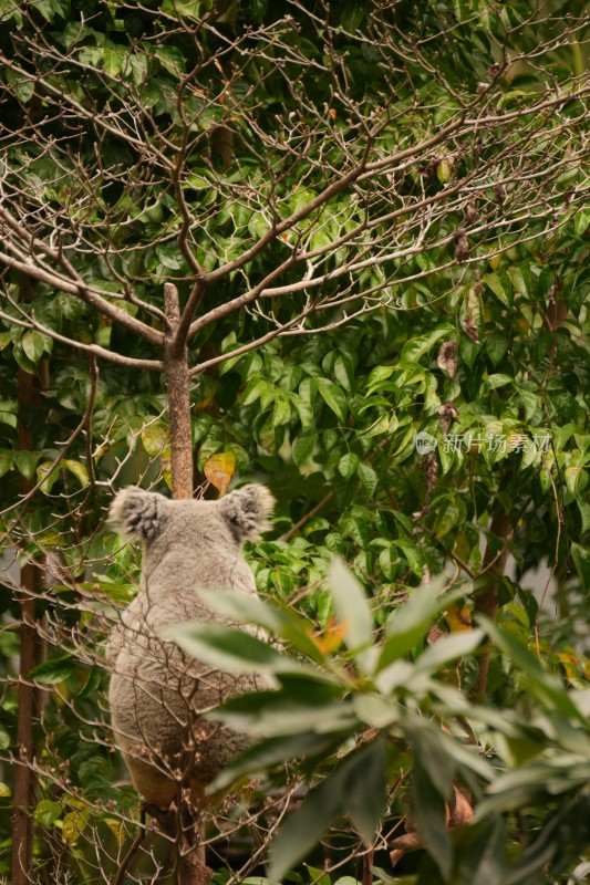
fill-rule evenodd
<path id="1" fill-rule="evenodd" d="M 189 538 L 195 532 L 221 534 L 241 545 L 268 528 L 275 499 L 263 486 L 250 482 L 218 501 L 170 500 L 163 494 L 128 488 L 111 504 L 111 525 L 127 538 L 151 545 L 158 538 Z"/>

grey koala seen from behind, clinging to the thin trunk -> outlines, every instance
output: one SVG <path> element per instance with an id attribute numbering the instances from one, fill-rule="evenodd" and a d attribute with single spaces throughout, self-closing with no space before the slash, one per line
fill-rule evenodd
<path id="1" fill-rule="evenodd" d="M 184 621 L 231 624 L 208 610 L 198 590 L 256 593 L 242 543 L 268 528 L 275 500 L 250 483 L 218 501 L 170 500 L 127 488 L 110 522 L 143 542 L 142 579 L 107 644 L 108 704 L 116 741 L 144 799 L 167 808 L 180 780 L 195 805 L 219 770 L 251 738 L 203 718 L 230 696 L 267 687 L 256 674 L 235 675 L 185 655 L 158 631 Z"/>

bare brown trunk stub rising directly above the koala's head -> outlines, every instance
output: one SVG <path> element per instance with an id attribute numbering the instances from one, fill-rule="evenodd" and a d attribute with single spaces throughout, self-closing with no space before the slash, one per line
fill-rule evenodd
<path id="1" fill-rule="evenodd" d="M 186 341 L 177 341 L 175 335 L 180 322 L 180 309 L 178 290 L 173 283 L 164 284 L 164 304 L 167 324 L 164 342 L 164 373 L 170 434 L 172 497 L 192 498 L 190 375 Z"/>

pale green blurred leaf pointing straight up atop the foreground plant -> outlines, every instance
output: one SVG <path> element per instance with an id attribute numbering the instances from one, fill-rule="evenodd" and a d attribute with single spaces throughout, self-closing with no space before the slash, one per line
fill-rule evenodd
<path id="1" fill-rule="evenodd" d="M 373 615 L 364 590 L 338 556 L 328 573 L 328 583 L 340 624 L 345 626 L 344 643 L 360 663 L 368 660 L 368 646 L 373 639 Z"/>

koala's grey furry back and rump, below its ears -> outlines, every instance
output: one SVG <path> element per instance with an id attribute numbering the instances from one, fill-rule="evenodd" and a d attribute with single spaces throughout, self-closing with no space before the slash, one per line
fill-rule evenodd
<path id="1" fill-rule="evenodd" d="M 207 511 L 205 517 L 209 517 Z M 188 550 L 183 527 L 174 532 L 174 524 L 167 524 L 169 538 L 164 529 L 156 534 L 144 551 L 139 593 L 123 613 L 107 647 L 115 737 L 135 787 L 161 806 L 169 804 L 185 770 L 198 800 L 220 768 L 251 741 L 205 720 L 201 714 L 232 695 L 265 687 L 261 677 L 236 676 L 186 656 L 159 634 L 162 627 L 186 621 L 230 623 L 200 603 L 199 589 L 256 592 L 239 545 L 228 545 L 227 539 L 221 543 L 224 538 L 211 534 L 213 528 L 209 523 L 205 519 L 206 543 L 198 538 Z M 158 548 L 163 539 L 167 541 Z"/>

